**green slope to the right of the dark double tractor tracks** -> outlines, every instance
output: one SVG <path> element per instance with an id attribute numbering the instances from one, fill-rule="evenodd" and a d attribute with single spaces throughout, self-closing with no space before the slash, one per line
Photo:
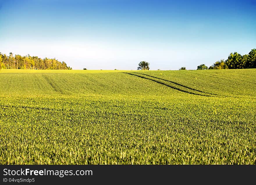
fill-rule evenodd
<path id="1" fill-rule="evenodd" d="M 256 96 L 255 69 L 140 71 L 183 85 L 228 96 Z"/>

